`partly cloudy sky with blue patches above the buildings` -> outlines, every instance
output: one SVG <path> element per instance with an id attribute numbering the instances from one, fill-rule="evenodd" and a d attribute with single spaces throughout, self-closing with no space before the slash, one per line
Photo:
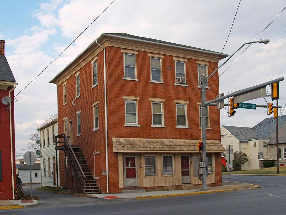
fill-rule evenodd
<path id="1" fill-rule="evenodd" d="M 36 132 L 37 125 L 57 112 L 57 87 L 49 81 L 102 33 L 128 33 L 217 52 L 223 50 L 228 55 L 246 42 L 269 39 L 268 44 L 245 45 L 220 68 L 220 93 L 228 94 L 286 76 L 286 9 L 283 10 L 286 3 L 283 0 L 115 0 L 106 10 L 112 0 L 0 2 L 0 39 L 5 40 L 5 56 L 18 83 L 14 94 L 18 94 L 15 97 L 16 156 L 27 151 L 29 135 Z M 278 112 L 285 115 L 286 81 L 280 82 L 279 87 L 282 108 Z M 271 102 L 270 97 L 265 99 Z M 265 99 L 247 103 L 266 105 Z M 220 110 L 221 125 L 253 127 L 268 117 L 273 115 L 268 116 L 265 108 L 240 108 L 232 117 L 228 117 L 228 109 Z"/>

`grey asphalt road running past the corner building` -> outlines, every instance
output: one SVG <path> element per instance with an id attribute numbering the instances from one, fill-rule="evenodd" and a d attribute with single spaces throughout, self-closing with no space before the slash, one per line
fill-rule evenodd
<path id="1" fill-rule="evenodd" d="M 223 176 L 224 181 L 229 176 Z M 2 214 L 286 214 L 286 176 L 231 176 L 232 182 L 261 188 L 144 200 L 106 200 L 34 191 L 41 198 L 32 208 L 2 210 Z M 25 189 L 25 191 L 28 191 Z M 35 193 L 34 193 L 35 192 Z M 39 192 L 39 193 L 38 193 Z M 13 210 L 13 213 L 11 213 Z"/>

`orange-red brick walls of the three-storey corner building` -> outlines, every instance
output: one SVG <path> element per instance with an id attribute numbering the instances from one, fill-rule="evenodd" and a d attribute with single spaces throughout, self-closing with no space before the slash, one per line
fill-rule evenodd
<path id="1" fill-rule="evenodd" d="M 156 139 L 200 139 L 199 106 L 200 88 L 198 88 L 198 68 L 195 59 L 187 59 L 185 86 L 174 85 L 175 61 L 174 56 L 164 55 L 162 59 L 162 76 L 164 84 L 150 82 L 150 56 L 148 52 L 138 51 L 136 55 L 137 78 L 139 81 L 123 80 L 124 60 L 121 48 L 106 48 L 107 70 L 107 109 L 108 109 L 108 165 L 109 165 L 109 192 L 119 191 L 118 182 L 118 155 L 113 152 L 112 137 L 126 138 L 156 138 Z M 73 144 L 80 145 L 91 172 L 94 172 L 94 151 L 99 153 L 100 179 L 98 184 L 106 192 L 105 157 L 105 116 L 104 116 L 104 69 L 103 52 L 97 59 L 98 85 L 92 88 L 92 65 L 88 62 L 80 71 L 80 96 L 76 97 L 76 79 L 74 74 L 67 80 L 67 104 L 63 105 L 63 85 L 58 85 L 58 115 L 59 134 L 64 133 L 63 118 L 68 117 L 73 122 Z M 170 66 L 170 70 L 167 70 Z M 209 62 L 208 73 L 217 64 Z M 76 73 L 77 71 L 74 71 Z M 218 73 L 209 79 L 210 89 L 207 89 L 206 100 L 216 98 L 219 94 Z M 213 83 L 214 82 L 214 83 Z M 138 120 L 140 127 L 125 127 L 125 103 L 122 96 L 140 97 L 138 100 Z M 164 125 L 166 128 L 151 128 L 152 113 L 150 98 L 165 99 Z M 72 100 L 75 106 L 72 105 Z M 185 100 L 187 104 L 187 119 L 189 129 L 176 127 L 176 105 L 174 100 Z M 99 101 L 99 129 L 93 130 L 92 104 Z M 76 137 L 76 112 L 81 111 L 81 135 Z M 209 107 L 210 128 L 207 129 L 207 139 L 220 139 L 220 111 L 216 107 Z M 60 155 L 61 156 L 61 155 Z M 61 161 L 61 159 L 60 159 Z M 221 162 L 221 161 L 220 161 Z M 220 164 L 219 162 L 219 164 Z M 61 165 L 63 166 L 63 165 Z M 217 166 L 217 165 L 216 165 Z M 220 166 L 220 165 L 219 165 Z M 63 168 L 63 167 L 62 167 Z M 61 169 L 61 173 L 63 170 Z M 216 170 L 217 171 L 217 170 Z M 221 171 L 221 170 L 220 170 Z M 62 174 L 63 175 L 63 174 Z M 64 183 L 64 178 L 60 179 Z"/>

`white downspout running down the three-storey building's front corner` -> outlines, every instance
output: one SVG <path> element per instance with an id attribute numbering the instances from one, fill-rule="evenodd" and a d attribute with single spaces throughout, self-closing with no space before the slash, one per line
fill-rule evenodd
<path id="1" fill-rule="evenodd" d="M 104 58 L 104 100 L 105 100 L 105 149 L 106 149 L 106 192 L 109 193 L 108 186 L 108 142 L 107 142 L 107 93 L 106 93 L 106 56 L 105 48 L 100 45 L 97 40 L 95 41 L 97 45 L 103 49 L 103 58 Z"/>

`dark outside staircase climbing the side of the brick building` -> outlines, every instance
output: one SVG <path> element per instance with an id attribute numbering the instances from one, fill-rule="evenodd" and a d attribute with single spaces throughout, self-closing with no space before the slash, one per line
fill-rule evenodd
<path id="1" fill-rule="evenodd" d="M 97 186 L 97 182 L 92 175 L 83 152 L 78 145 L 70 145 L 69 140 L 65 133 L 55 137 L 56 144 L 63 143 L 62 146 L 57 147 L 56 150 L 63 150 L 68 161 L 70 162 L 74 176 L 77 177 L 83 193 L 85 195 L 100 194 L 100 188 Z M 65 174 L 66 176 L 66 174 Z M 66 176 L 67 177 L 67 176 Z"/>

